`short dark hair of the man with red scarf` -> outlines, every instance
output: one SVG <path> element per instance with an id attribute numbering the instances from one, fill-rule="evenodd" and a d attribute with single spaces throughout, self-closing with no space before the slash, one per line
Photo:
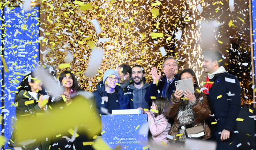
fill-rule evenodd
<path id="1" fill-rule="evenodd" d="M 211 61 L 218 61 L 218 67 L 224 64 L 222 53 L 218 50 L 207 50 L 203 52 L 203 59 L 204 58 L 210 58 Z"/>

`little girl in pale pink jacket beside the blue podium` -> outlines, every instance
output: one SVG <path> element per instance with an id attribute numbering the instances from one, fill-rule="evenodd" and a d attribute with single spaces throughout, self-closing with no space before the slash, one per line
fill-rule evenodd
<path id="1" fill-rule="evenodd" d="M 165 97 L 157 97 L 153 99 L 151 106 L 151 112 L 145 112 L 147 114 L 147 120 L 149 123 L 149 129 L 152 134 L 152 144 L 158 146 L 167 146 L 168 139 L 167 134 L 171 128 L 171 124 L 168 122 L 168 117 L 164 114 L 164 109 L 168 99 Z M 155 112 L 158 111 L 158 113 Z"/>

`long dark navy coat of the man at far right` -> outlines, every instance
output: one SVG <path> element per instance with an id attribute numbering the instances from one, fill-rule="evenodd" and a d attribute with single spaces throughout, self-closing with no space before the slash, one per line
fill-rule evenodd
<path id="1" fill-rule="evenodd" d="M 235 83 L 227 82 L 228 79 Z M 211 114 L 214 114 L 208 122 L 212 135 L 210 139 L 217 141 L 217 150 L 235 150 L 239 143 L 238 133 L 234 131 L 238 131 L 236 119 L 241 109 L 241 89 L 238 79 L 226 72 L 219 74 L 214 80 L 208 101 Z M 224 142 L 220 140 L 219 134 L 223 129 L 230 131 L 230 139 Z"/>

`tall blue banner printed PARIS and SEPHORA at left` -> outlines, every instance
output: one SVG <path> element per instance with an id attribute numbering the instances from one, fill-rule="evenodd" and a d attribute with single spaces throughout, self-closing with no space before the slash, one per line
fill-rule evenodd
<path id="1" fill-rule="evenodd" d="M 27 12 L 20 7 L 4 8 L 4 59 L 8 67 L 4 72 L 4 136 L 8 141 L 15 127 L 17 87 L 39 61 L 39 20 L 39 7 Z"/>

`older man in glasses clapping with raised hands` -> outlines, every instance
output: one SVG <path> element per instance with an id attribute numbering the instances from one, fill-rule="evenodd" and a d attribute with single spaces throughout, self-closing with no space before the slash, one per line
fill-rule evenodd
<path id="1" fill-rule="evenodd" d="M 163 77 L 161 71 L 158 73 L 157 68 L 153 67 L 151 69 L 153 82 L 145 94 L 147 102 L 152 102 L 151 96 L 166 97 L 169 100 L 172 93 L 176 90 L 174 85 L 174 82 L 178 79 L 178 62 L 176 59 L 173 57 L 166 58 L 163 61 L 162 69 L 165 74 Z"/>

